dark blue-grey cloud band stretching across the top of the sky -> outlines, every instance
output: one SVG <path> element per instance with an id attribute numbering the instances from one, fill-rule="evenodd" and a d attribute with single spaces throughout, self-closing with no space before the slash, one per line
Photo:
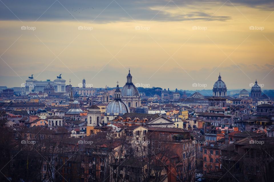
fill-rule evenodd
<path id="1" fill-rule="evenodd" d="M 4 4 L 5 5 L 4 5 Z M 229 16 L 217 16 L 213 13 L 224 3 L 221 0 L 213 1 L 128 1 L 128 0 L 3 0 L 0 3 L 1 20 L 18 20 L 21 21 L 95 21 L 108 23 L 114 21 L 202 21 L 210 18 L 210 21 L 226 21 Z M 268 0 L 231 0 L 231 3 L 254 8 L 271 8 L 274 7 L 272 1 Z M 232 6 L 229 1 L 224 6 Z M 204 5 L 211 5 L 212 8 L 204 8 Z M 215 8 L 216 7 L 216 8 Z M 187 12 L 185 9 L 197 11 Z M 173 10 L 169 11 L 169 10 Z M 184 12 L 186 11 L 186 12 Z M 204 12 L 201 12 L 204 11 Z M 210 11 L 205 12 L 205 11 Z"/>

